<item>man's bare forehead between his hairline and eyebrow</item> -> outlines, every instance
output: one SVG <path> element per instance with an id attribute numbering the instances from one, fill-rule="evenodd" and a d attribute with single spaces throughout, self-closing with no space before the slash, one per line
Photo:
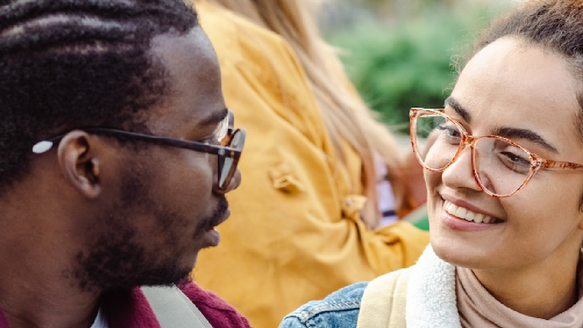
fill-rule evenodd
<path id="1" fill-rule="evenodd" d="M 216 125 L 227 115 L 218 59 L 201 27 L 157 36 L 151 51 L 167 76 L 167 94 L 149 120 L 157 133 Z"/>

